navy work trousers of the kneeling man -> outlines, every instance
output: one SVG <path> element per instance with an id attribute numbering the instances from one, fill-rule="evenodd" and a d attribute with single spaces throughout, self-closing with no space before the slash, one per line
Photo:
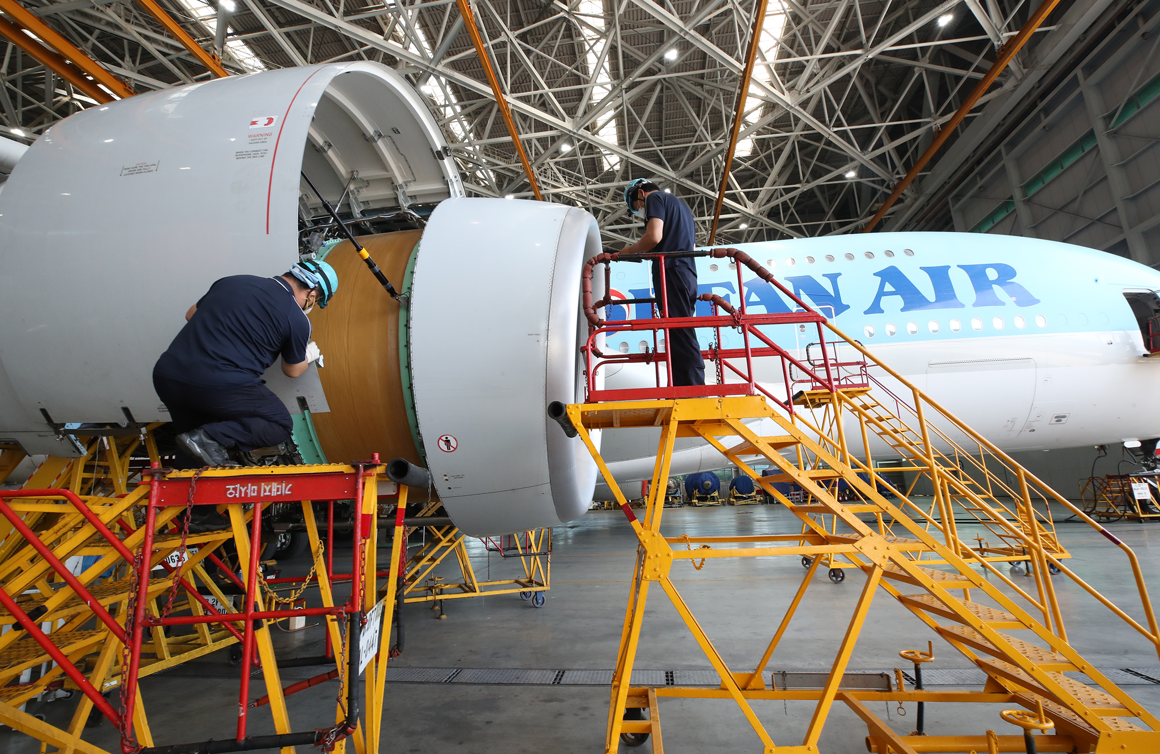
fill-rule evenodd
<path id="1" fill-rule="evenodd" d="M 290 412 L 264 384 L 198 387 L 153 375 L 153 389 L 169 409 L 176 434 L 201 427 L 226 448 L 255 450 L 290 438 Z"/>

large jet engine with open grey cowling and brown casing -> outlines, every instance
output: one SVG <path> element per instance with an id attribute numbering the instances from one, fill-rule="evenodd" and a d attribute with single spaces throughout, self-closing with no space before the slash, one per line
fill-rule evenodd
<path id="1" fill-rule="evenodd" d="M 363 227 L 428 215 L 361 239 L 398 300 L 349 242 L 328 248 L 339 292 L 310 314 L 325 367 L 267 372 L 292 413 L 311 412 L 327 459 L 427 466 L 469 535 L 579 517 L 596 470 L 546 407 L 582 396 L 580 273 L 596 223 L 463 198 L 428 104 L 375 63 L 121 100 L 20 157 L 0 193 L 0 441 L 67 456 L 74 422 L 166 421 L 153 362 L 215 280 L 298 261 L 299 220 L 321 206 L 303 173 Z"/>

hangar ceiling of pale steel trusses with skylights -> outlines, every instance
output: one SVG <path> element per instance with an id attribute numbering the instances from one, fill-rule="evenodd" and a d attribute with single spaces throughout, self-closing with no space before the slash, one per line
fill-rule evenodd
<path id="1" fill-rule="evenodd" d="M 14 21 L 20 3 L 137 92 L 210 78 L 139 1 L 0 0 L 0 20 Z M 201 48 L 219 48 L 231 73 L 358 59 L 393 66 L 427 99 L 469 194 L 531 197 L 455 0 L 158 2 Z M 1053 115 L 1043 103 L 1079 86 L 1094 57 L 1119 55 L 1134 65 L 1123 74 L 1132 86 L 1107 92 L 1119 102 L 1100 107 L 1144 92 L 1160 71 L 1160 56 L 1147 52 L 1157 42 L 1148 38 L 1157 2 L 1059 2 L 876 230 L 1066 234 L 1066 227 L 1024 217 L 1036 208 L 1027 204 L 1021 181 L 1042 166 L 1012 172 L 1012 152 L 1031 152 L 1030 162 L 1049 165 L 1060 159 L 1052 150 L 1074 151 L 1064 137 L 1042 148 L 1029 139 L 1045 142 L 1047 131 L 1036 128 L 1051 117 L 1088 115 L 1092 108 L 1066 97 Z M 623 184 L 652 177 L 689 202 L 704 242 L 760 5 L 473 0 L 472 7 L 545 198 L 593 211 L 616 247 L 639 227 L 625 215 Z M 717 241 L 861 230 L 992 66 L 996 48 L 1037 7 L 1038 0 L 768 0 Z M 29 142 L 94 101 L 46 71 L 21 42 L 24 49 L 3 45 L 0 118 Z M 1136 110 L 1151 101 L 1141 96 Z M 1154 119 L 1137 118 L 1141 133 L 1121 151 L 1134 154 L 1154 143 L 1144 133 L 1144 123 Z M 1104 130 L 1088 122 L 1079 133 L 1085 129 Z M 1082 194 L 1101 171 L 1088 173 L 1053 201 L 1070 202 L 1064 211 L 1080 217 L 1102 209 L 1096 220 L 1107 225 L 1107 206 L 1123 203 L 1112 195 L 1129 188 L 1105 187 L 1096 191 L 1100 208 L 1088 208 Z M 350 188 L 357 195 L 357 181 Z M 1012 210 L 1002 212 L 1007 202 Z M 1146 229 L 1136 233 L 1136 251 L 1124 240 L 1131 229 L 1122 210 L 1112 218 L 1116 233 L 1075 242 L 1146 254 Z M 1151 217 L 1147 209 L 1140 213 Z"/>

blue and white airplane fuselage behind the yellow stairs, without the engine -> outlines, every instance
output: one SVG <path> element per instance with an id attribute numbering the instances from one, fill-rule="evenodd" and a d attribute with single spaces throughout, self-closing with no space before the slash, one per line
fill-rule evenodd
<path id="1" fill-rule="evenodd" d="M 1150 320 L 1160 314 L 1160 271 L 1070 244 L 970 233 L 854 234 L 735 248 L 1005 451 L 1114 442 L 1151 451 L 1160 437 L 1160 405 L 1152 399 L 1160 378 L 1152 349 L 1160 350 L 1160 338 L 1150 339 Z M 796 306 L 747 268 L 739 287 L 727 259 L 695 261 L 701 293 L 734 307 L 744 296 L 752 313 Z M 653 296 L 648 264 L 614 262 L 610 281 L 614 300 Z M 651 306 L 612 304 L 604 316 L 615 326 L 648 317 Z M 708 302 L 697 307 L 698 316 L 712 313 Z M 804 325 L 763 332 L 799 360 L 811 349 L 820 355 L 815 332 Z M 708 349 L 713 333 L 699 329 L 698 339 Z M 722 339 L 725 348 L 741 345 L 733 331 Z M 606 350 L 651 348 L 647 332 L 606 335 Z M 850 358 L 853 348 L 839 349 L 839 361 Z M 759 382 L 784 397 L 778 360 L 756 360 L 754 368 Z M 606 387 L 652 386 L 654 375 L 648 364 L 612 365 Z M 652 477 L 658 437 L 659 430 L 603 432 L 602 456 L 618 481 Z M 704 444 L 677 443 L 686 447 L 673 456 L 673 474 L 726 465 Z"/>

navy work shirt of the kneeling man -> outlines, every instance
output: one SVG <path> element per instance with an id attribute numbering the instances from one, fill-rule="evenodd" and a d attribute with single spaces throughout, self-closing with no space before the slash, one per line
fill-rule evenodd
<path id="1" fill-rule="evenodd" d="M 198 387 L 245 387 L 280 355 L 306 361 L 310 320 L 281 277 L 223 277 L 197 302 L 153 372 Z"/>

